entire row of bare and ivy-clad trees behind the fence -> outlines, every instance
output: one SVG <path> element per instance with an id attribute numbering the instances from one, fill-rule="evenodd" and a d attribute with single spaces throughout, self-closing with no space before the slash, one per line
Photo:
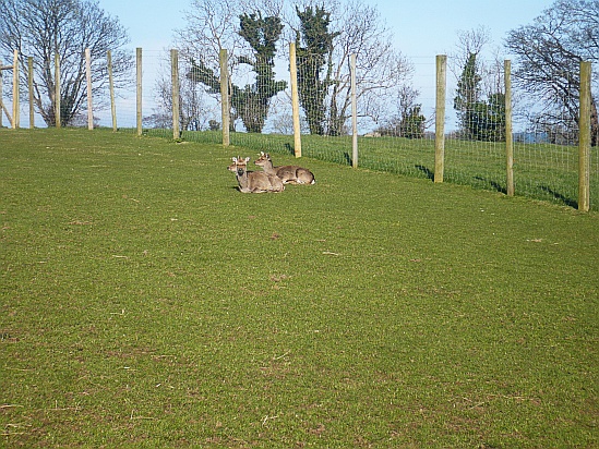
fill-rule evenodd
<path id="1" fill-rule="evenodd" d="M 304 0 L 292 8 L 284 0 L 190 0 L 185 27 L 176 31 L 184 78 L 181 82 L 183 129 L 217 129 L 209 98 L 219 93 L 220 49 L 229 51 L 231 126 L 260 133 L 273 110 L 287 102 L 288 61 L 283 49 L 297 43 L 298 84 L 304 128 L 312 134 L 348 132 L 350 114 L 349 57 L 358 54 L 359 117 L 378 124 L 380 134 L 421 137 L 429 119 L 411 84 L 412 64 L 393 46 L 393 36 L 375 7 L 362 0 L 340 3 Z M 577 138 L 578 66 L 599 61 L 599 0 L 556 0 L 528 25 L 507 33 L 505 50 L 515 56 L 513 84 L 524 93 L 516 113 L 541 129 L 552 142 Z M 457 81 L 453 99 L 459 135 L 479 141 L 505 138 L 501 62 L 486 63 L 484 28 L 458 34 L 452 71 Z M 117 17 L 97 0 L 0 0 L 0 58 L 16 49 L 22 66 L 34 60 L 33 97 L 47 125 L 56 124 L 53 59 L 60 60 L 61 123 L 86 117 L 84 51 L 92 52 L 94 107 L 107 107 L 107 52 L 112 54 L 115 86 L 132 82 L 133 54 Z M 285 75 L 280 75 L 285 73 Z M 26 85 L 26 71 L 21 71 Z M 595 71 L 594 80 L 599 81 Z M 242 81 L 243 84 L 239 84 Z M 164 108 L 146 124 L 165 125 L 170 110 L 168 77 L 157 86 Z M 525 101 L 527 100 L 527 101 Z M 393 106 L 395 104 L 395 110 Z M 391 110 L 390 110 L 391 109 Z M 599 139 L 597 99 L 591 99 L 591 144 Z M 277 110 L 280 114 L 280 110 Z M 214 117 L 214 116 L 213 116 Z M 274 121 L 273 121 L 274 122 Z"/>

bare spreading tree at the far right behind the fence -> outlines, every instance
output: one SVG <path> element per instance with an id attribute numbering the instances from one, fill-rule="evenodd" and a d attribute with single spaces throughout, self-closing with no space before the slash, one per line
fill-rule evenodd
<path id="1" fill-rule="evenodd" d="M 599 61 L 599 0 L 558 0 L 534 23 L 511 31 L 506 48 L 517 56 L 514 85 L 536 105 L 529 120 L 544 128 L 553 141 L 575 139 L 579 63 Z M 591 109 L 591 144 L 596 146 L 597 98 L 592 98 Z"/>

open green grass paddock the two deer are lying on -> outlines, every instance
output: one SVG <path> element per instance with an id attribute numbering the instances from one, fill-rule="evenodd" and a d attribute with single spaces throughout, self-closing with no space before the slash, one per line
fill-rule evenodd
<path id="1" fill-rule="evenodd" d="M 596 211 L 256 153 L 0 130 L 0 447 L 599 446 Z"/>

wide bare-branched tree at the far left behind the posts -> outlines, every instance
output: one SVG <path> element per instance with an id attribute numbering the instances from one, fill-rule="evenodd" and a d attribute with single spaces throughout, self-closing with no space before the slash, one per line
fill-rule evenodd
<path id="1" fill-rule="evenodd" d="M 22 66 L 33 57 L 33 96 L 36 110 L 47 125 L 56 125 L 55 54 L 60 60 L 60 119 L 74 123 L 87 108 L 85 49 L 92 56 L 95 98 L 107 88 L 107 52 L 111 50 L 116 87 L 127 83 L 132 56 L 122 47 L 127 32 L 116 17 L 106 14 L 93 0 L 1 0 L 0 51 L 7 58 L 19 50 Z M 22 82 L 26 73 L 22 71 Z M 104 102 L 96 101 L 95 109 Z"/>

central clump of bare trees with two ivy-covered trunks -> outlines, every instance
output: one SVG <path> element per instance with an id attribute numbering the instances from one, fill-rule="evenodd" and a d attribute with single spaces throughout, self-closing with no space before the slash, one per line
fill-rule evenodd
<path id="1" fill-rule="evenodd" d="M 287 73 L 288 60 L 277 59 L 277 52 L 284 53 L 281 49 L 288 48 L 291 40 L 297 43 L 304 126 L 312 134 L 348 132 L 351 53 L 360 54 L 357 95 L 362 118 L 376 122 L 387 114 L 388 97 L 398 96 L 410 82 L 411 64 L 393 48 L 392 35 L 378 11 L 361 0 L 345 5 L 307 2 L 292 11 L 277 0 L 252 4 L 192 0 L 191 7 L 185 14 L 187 27 L 177 32 L 176 47 L 189 61 L 187 78 L 214 97 L 219 93 L 217 54 L 221 48 L 228 50 L 233 80 L 229 85 L 232 130 L 242 124 L 249 132 L 262 132 L 280 98 L 278 94 L 287 87 L 286 81 L 277 81 L 276 70 L 278 63 L 278 69 Z M 244 86 L 235 82 L 244 78 L 251 82 Z M 168 83 L 168 78 L 161 83 Z"/>

